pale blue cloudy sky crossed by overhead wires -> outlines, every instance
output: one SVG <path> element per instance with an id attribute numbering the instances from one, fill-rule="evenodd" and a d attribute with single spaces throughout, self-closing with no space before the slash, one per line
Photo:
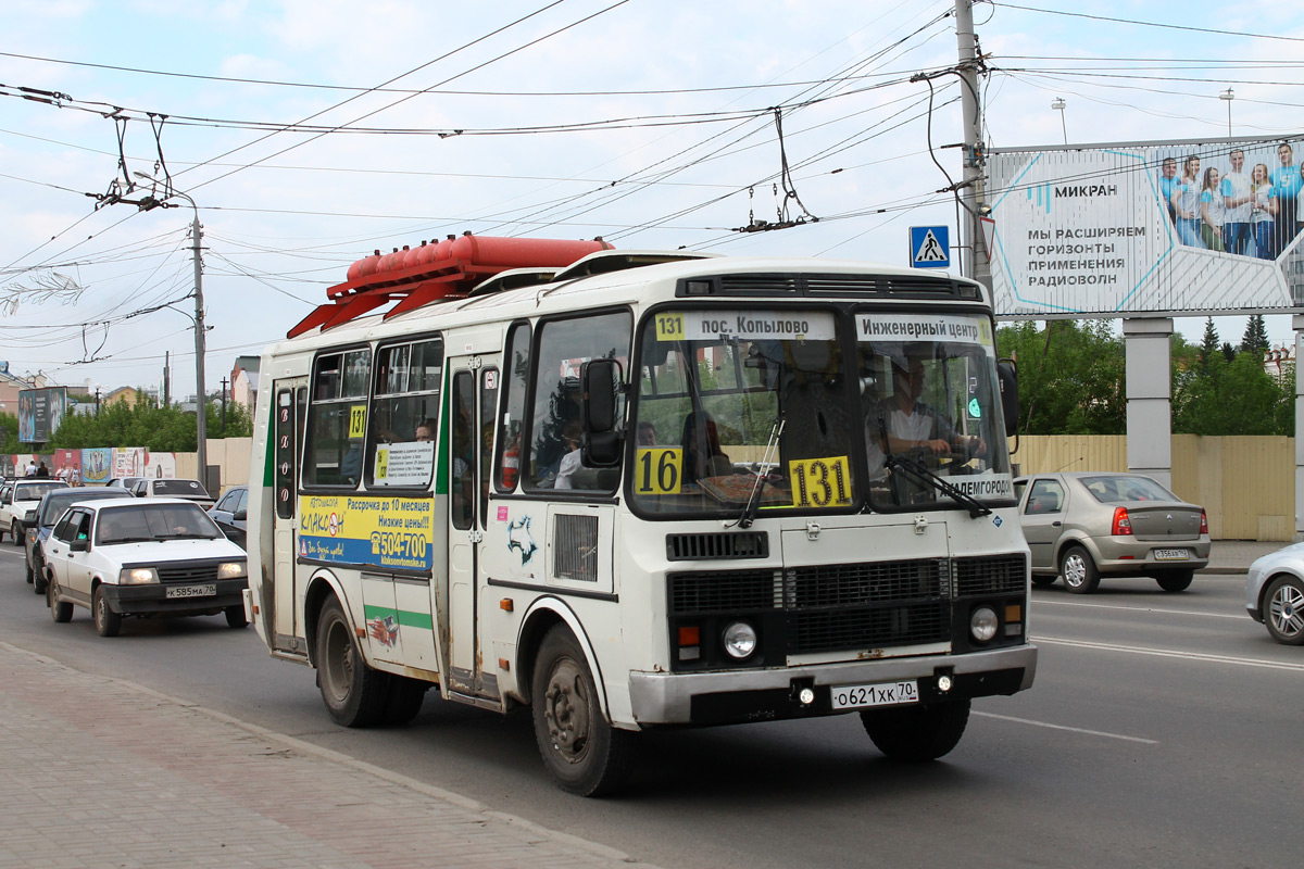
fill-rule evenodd
<path id="1" fill-rule="evenodd" d="M 210 392 L 352 262 L 449 233 L 905 266 L 910 227 L 958 235 L 939 193 L 962 173 L 957 79 L 931 111 L 909 81 L 956 63 L 953 8 L 9 0 L 0 361 L 107 392 L 156 386 L 168 354 L 193 392 L 196 210 Z M 974 21 L 996 147 L 1209 141 L 1228 108 L 1235 135 L 1304 130 L 1295 3 L 1025 0 Z M 785 162 L 795 195 L 776 193 Z M 151 193 L 136 172 L 194 208 L 104 199 Z M 780 218 L 799 225 L 737 231 Z M 1236 344 L 1245 319 L 1215 324 Z M 1205 322 L 1176 326 L 1198 341 Z M 1288 315 L 1267 327 L 1294 340 Z"/>

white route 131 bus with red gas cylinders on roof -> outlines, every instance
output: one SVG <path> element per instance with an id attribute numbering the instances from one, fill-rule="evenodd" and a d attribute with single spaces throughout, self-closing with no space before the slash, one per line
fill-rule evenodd
<path id="1" fill-rule="evenodd" d="M 432 687 L 528 707 L 599 795 L 645 728 L 857 713 L 931 760 L 1031 687 L 979 284 L 685 251 L 452 297 L 353 275 L 262 356 L 248 517 L 249 619 L 338 723 Z"/>

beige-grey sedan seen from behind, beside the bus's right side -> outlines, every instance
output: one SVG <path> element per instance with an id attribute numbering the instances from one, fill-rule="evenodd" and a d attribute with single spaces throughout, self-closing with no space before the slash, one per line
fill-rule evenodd
<path id="1" fill-rule="evenodd" d="M 1142 474 L 1052 473 L 1020 477 L 1018 520 L 1033 582 L 1063 577 L 1085 594 L 1101 576 L 1149 576 L 1181 591 L 1209 563 L 1209 520 Z"/>

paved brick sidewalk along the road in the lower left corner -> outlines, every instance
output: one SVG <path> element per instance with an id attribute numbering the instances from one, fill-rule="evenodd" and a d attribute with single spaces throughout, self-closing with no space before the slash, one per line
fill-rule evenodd
<path id="1" fill-rule="evenodd" d="M 4 642 L 0 806 L 0 866 L 16 869 L 634 862 L 404 775 Z"/>

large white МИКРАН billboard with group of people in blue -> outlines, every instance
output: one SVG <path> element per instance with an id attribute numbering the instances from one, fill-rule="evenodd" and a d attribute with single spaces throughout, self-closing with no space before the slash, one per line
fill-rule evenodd
<path id="1" fill-rule="evenodd" d="M 988 156 L 998 315 L 1304 310 L 1304 142 Z"/>

